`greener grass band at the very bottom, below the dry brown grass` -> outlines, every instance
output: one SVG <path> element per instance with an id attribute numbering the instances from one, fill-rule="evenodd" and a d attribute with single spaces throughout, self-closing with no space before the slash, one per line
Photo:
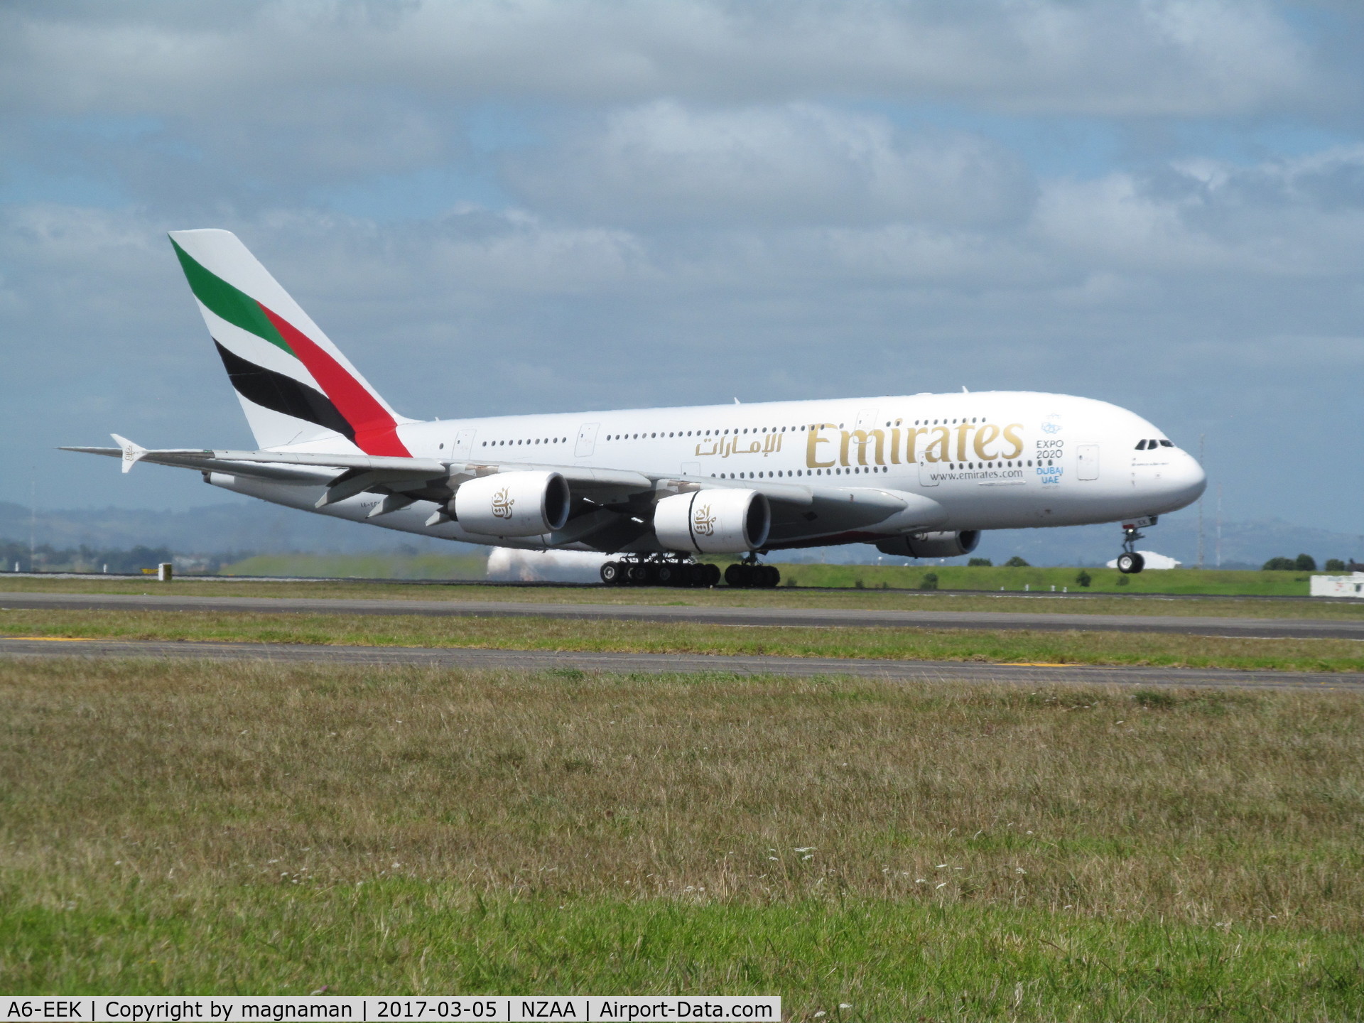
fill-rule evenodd
<path id="1" fill-rule="evenodd" d="M 1345 934 L 889 900 L 170 883 L 0 910 L 7 993 L 777 993 L 791 1019 L 1357 1019 Z M 840 1009 L 840 1005 L 848 1008 Z"/>

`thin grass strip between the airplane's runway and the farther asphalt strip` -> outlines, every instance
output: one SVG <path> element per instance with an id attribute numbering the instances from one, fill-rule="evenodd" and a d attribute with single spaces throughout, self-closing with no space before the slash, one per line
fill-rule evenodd
<path id="1" fill-rule="evenodd" d="M 963 569 L 964 572 L 964 569 Z M 555 604 L 683 604 L 690 607 L 832 607 L 868 610 L 1026 611 L 1028 614 L 1214 615 L 1229 618 L 1364 618 L 1364 600 L 1275 600 L 1274 597 L 1161 597 L 1153 595 L 1053 596 L 1050 592 L 943 593 L 895 589 L 667 589 L 663 587 L 495 587 L 404 585 L 336 580 L 318 582 L 232 582 L 155 580 L 11 578 L 0 574 L 4 593 L 160 593 L 256 597 L 383 597 L 393 600 L 498 600 Z"/>

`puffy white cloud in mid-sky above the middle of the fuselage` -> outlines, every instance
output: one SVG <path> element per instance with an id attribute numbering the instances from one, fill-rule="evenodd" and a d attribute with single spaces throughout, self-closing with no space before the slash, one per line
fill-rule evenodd
<path id="1" fill-rule="evenodd" d="M 611 112 L 524 154 L 512 181 L 537 205 L 607 222 L 988 224 L 1027 213 L 1031 180 L 1003 147 L 896 131 L 827 105 Z"/>

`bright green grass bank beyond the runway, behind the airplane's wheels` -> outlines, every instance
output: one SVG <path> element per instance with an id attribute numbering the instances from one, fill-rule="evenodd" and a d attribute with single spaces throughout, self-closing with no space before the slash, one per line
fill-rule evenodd
<path id="1" fill-rule="evenodd" d="M 1082 569 L 966 567 L 962 565 L 786 565 L 773 555 L 786 585 L 919 589 L 937 576 L 940 589 L 978 589 L 1018 593 L 1057 592 L 1065 588 L 1093 593 L 1209 593 L 1252 596 L 1307 596 L 1311 573 L 1172 569 L 1124 576 L 1116 569 L 1083 569 L 1088 587 L 1079 584 Z M 724 562 L 722 562 L 724 563 Z M 334 578 L 476 580 L 484 577 L 479 555 L 404 554 L 265 554 L 226 565 L 225 576 L 301 576 Z"/>

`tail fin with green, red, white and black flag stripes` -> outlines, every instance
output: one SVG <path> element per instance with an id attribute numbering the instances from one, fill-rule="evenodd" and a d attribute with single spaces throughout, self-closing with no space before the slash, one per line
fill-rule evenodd
<path id="1" fill-rule="evenodd" d="M 411 454 L 400 417 L 231 231 L 173 231 L 203 322 L 261 447 L 346 438 Z"/>

